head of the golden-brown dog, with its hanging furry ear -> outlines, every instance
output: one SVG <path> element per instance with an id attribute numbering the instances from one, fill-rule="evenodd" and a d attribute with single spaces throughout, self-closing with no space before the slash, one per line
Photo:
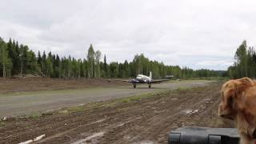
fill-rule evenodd
<path id="1" fill-rule="evenodd" d="M 254 81 L 250 78 L 240 78 L 230 80 L 222 85 L 222 102 L 218 106 L 218 115 L 222 118 L 234 119 L 242 106 L 244 91 L 254 86 Z"/>

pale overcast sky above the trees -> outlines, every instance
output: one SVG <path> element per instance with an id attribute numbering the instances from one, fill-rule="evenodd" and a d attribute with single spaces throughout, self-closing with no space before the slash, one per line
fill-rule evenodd
<path id="1" fill-rule="evenodd" d="M 256 43 L 256 1 L 0 0 L 0 37 L 30 49 L 107 62 L 145 54 L 166 65 L 226 70 L 243 40 Z"/>

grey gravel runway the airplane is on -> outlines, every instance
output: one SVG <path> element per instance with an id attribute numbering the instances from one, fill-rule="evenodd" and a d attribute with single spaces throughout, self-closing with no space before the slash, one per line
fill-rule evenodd
<path id="1" fill-rule="evenodd" d="M 50 82 L 53 80 L 50 80 Z M 57 81 L 57 82 L 55 82 Z M 60 82 L 59 82 L 60 81 Z M 23 81 L 22 81 L 23 82 Z M 186 88 L 194 86 L 205 86 L 210 81 L 181 81 L 181 82 L 166 82 L 161 84 L 152 85 L 152 89 L 148 89 L 147 85 L 139 85 L 137 89 L 132 88 L 132 85 L 118 86 L 119 83 L 107 85 L 101 81 L 97 87 L 80 87 L 82 83 L 75 83 L 77 81 L 61 81 L 54 80 L 56 86 L 51 88 L 54 90 L 48 90 L 47 81 L 38 82 L 38 86 L 46 85 L 42 87 L 41 91 L 26 86 L 22 87 L 22 90 L 15 93 L 1 94 L 0 93 L 0 118 L 12 117 L 19 115 L 38 114 L 49 110 L 56 110 L 67 106 L 78 106 L 89 102 L 102 102 L 115 98 L 124 98 L 133 96 L 136 94 L 151 93 L 159 90 L 174 90 L 177 88 Z M 64 84 L 62 83 L 64 82 Z M 66 82 L 66 83 L 65 83 Z M 12 82 L 10 82 L 12 83 Z M 25 82 L 23 82 L 26 84 Z M 90 83 L 90 82 L 89 82 Z M 95 84 L 95 82 L 92 82 Z M 74 86 L 73 86 L 73 85 Z M 34 85 L 36 85 L 34 83 Z M 58 86 L 59 85 L 59 86 Z M 73 86 L 72 90 L 59 90 L 59 87 Z M 77 85 L 77 86 L 75 86 Z M 89 85 L 84 82 L 84 85 Z M 80 88 L 80 89 L 75 89 Z M 58 90 L 56 90 L 58 89 Z M 2 90 L 2 88 L 1 88 Z M 0 90 L 0 91 L 1 91 Z M 16 90 L 14 87 L 9 91 Z M 25 92 L 24 92 L 25 90 Z M 32 91 L 28 91 L 32 90 Z"/>

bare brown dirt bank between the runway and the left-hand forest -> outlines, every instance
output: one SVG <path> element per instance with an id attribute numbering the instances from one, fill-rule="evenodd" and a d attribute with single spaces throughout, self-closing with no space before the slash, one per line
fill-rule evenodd
<path id="1" fill-rule="evenodd" d="M 0 78 L 0 94 L 38 90 L 83 89 L 97 86 L 125 86 L 126 82 L 111 81 L 104 78 L 94 79 L 58 79 L 36 76 Z"/>

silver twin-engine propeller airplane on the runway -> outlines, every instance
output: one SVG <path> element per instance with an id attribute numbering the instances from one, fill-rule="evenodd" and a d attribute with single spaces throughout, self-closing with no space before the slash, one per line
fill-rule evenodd
<path id="1" fill-rule="evenodd" d="M 152 73 L 150 71 L 150 76 L 146 76 L 143 74 L 138 74 L 136 78 L 130 79 L 130 80 L 122 80 L 123 82 L 130 82 L 134 85 L 134 89 L 136 88 L 137 83 L 147 83 L 149 85 L 149 88 L 151 88 L 151 83 L 160 83 L 164 81 L 169 81 L 170 79 L 158 79 L 154 80 L 152 79 Z"/>

